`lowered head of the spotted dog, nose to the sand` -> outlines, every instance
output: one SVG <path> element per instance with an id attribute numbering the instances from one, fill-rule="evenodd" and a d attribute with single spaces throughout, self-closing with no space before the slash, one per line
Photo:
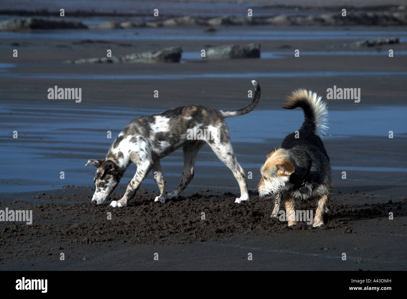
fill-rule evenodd
<path id="1" fill-rule="evenodd" d="M 118 166 L 112 160 L 93 160 L 89 159 L 88 165 L 96 166 L 95 178 L 93 179 L 96 190 L 92 197 L 92 203 L 101 205 L 106 201 L 109 195 L 116 188 L 122 174 L 118 171 Z"/>

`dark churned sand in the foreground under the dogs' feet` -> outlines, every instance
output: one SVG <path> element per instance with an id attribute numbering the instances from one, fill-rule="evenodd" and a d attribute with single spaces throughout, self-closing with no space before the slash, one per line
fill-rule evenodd
<path id="1" fill-rule="evenodd" d="M 320 228 L 270 219 L 253 194 L 236 205 L 235 194 L 198 190 L 163 205 L 142 188 L 125 209 L 91 205 L 90 188 L 28 194 L 8 206 L 33 210 L 34 223 L 2 229 L 0 270 L 405 270 L 406 198 L 375 194 L 406 188 L 382 188 L 335 194 Z"/>

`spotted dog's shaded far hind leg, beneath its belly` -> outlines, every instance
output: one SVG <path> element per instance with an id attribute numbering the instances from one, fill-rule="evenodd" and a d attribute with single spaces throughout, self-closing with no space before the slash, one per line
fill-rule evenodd
<path id="1" fill-rule="evenodd" d="M 177 198 L 177 196 L 184 191 L 186 186 L 190 183 L 194 177 L 194 165 L 198 151 L 204 145 L 202 140 L 193 140 L 185 143 L 182 146 L 182 152 L 184 154 L 184 172 L 182 172 L 181 181 L 177 188 L 168 194 L 168 199 Z"/>

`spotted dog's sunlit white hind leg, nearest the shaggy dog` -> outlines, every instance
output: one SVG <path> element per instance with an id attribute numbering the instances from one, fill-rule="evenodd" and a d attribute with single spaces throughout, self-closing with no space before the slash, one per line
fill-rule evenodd
<path id="1" fill-rule="evenodd" d="M 249 194 L 247 193 L 247 179 L 245 171 L 237 162 L 236 157 L 233 153 L 232 144 L 230 144 L 229 132 L 223 131 L 223 136 L 217 136 L 214 140 L 208 140 L 208 144 L 212 148 L 212 151 L 217 155 L 217 157 L 228 166 L 240 188 L 240 197 L 236 198 L 235 203 L 240 203 L 241 201 L 249 200 Z M 220 140 L 223 142 L 221 143 Z"/>

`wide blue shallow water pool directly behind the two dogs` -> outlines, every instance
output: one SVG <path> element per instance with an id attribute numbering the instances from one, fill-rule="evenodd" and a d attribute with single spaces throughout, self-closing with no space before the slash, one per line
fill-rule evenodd
<path id="1" fill-rule="evenodd" d="M 61 188 L 65 184 L 91 185 L 94 168 L 85 167 L 89 158 L 105 157 L 110 144 L 131 119 L 138 116 L 158 113 L 159 110 L 109 109 L 109 125 L 101 116 L 106 110 L 95 109 L 77 104 L 64 107 L 42 105 L 1 105 L 0 155 L 7 157 L 2 162 L 0 190 L 2 192 L 22 192 Z M 270 115 L 273 126 L 270 126 Z M 327 139 L 352 136 L 386 136 L 388 128 L 394 131 L 394 137 L 407 133 L 405 116 L 407 107 L 374 107 L 358 111 L 330 111 L 329 135 Z M 297 130 L 302 123 L 302 111 L 254 110 L 251 113 L 228 118 L 232 144 L 254 146 L 266 144 L 270 138 L 282 139 L 288 133 Z M 369 124 L 366 126 L 365 124 Z M 13 131 L 18 131 L 18 139 L 13 139 Z M 112 139 L 107 138 L 112 131 Z M 253 163 L 258 157 L 236 154 L 243 168 L 258 169 Z M 213 177 L 217 167 L 224 167 L 209 148 L 203 148 L 199 154 L 197 166 L 206 166 L 201 176 Z M 182 166 L 182 153 L 177 151 L 162 160 L 169 179 L 178 179 L 177 170 L 171 167 Z M 334 169 L 345 168 L 333 163 Z M 336 168 L 335 168 L 336 167 Z M 340 167 L 340 168 L 338 168 Z M 131 170 L 130 170 L 131 169 Z M 127 182 L 135 166 L 130 166 L 122 180 Z M 358 167 L 349 170 L 406 172 L 405 168 Z M 65 179 L 59 178 L 60 171 Z M 147 179 L 145 183 L 154 183 Z"/>

